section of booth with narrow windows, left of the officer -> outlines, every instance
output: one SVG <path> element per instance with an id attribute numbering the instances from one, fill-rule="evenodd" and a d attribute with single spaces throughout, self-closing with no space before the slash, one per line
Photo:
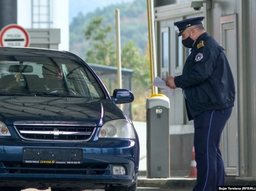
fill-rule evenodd
<path id="1" fill-rule="evenodd" d="M 157 75 L 165 78 L 169 75 L 182 74 L 183 64 L 190 50 L 183 47 L 182 38 L 174 22 L 190 17 L 203 15 L 203 9 L 195 11 L 191 1 L 157 0 L 154 8 L 156 31 Z M 176 2 L 174 4 L 171 4 Z M 165 89 L 159 93 L 167 95 Z M 170 100 L 170 176 L 188 176 L 191 165 L 191 155 L 194 140 L 193 121 L 186 114 L 183 92 L 181 88 L 173 91 Z"/>

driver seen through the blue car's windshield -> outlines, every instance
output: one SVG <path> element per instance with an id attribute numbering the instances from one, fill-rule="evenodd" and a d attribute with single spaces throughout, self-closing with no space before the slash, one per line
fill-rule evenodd
<path id="1" fill-rule="evenodd" d="M 64 91 L 66 89 L 63 72 L 60 66 L 43 64 L 42 75 L 44 77 L 44 86 L 49 92 Z"/>

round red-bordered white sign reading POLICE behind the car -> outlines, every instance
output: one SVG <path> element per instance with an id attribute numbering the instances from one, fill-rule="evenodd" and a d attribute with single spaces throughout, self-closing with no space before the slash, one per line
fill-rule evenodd
<path id="1" fill-rule="evenodd" d="M 10 24 L 0 31 L 1 47 L 28 47 L 29 44 L 29 33 L 19 25 Z"/>

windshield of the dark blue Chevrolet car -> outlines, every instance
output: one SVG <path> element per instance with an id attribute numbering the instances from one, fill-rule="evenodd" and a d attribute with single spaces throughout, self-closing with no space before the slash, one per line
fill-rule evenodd
<path id="1" fill-rule="evenodd" d="M 106 98 L 83 63 L 40 56 L 0 56 L 0 95 Z"/>

